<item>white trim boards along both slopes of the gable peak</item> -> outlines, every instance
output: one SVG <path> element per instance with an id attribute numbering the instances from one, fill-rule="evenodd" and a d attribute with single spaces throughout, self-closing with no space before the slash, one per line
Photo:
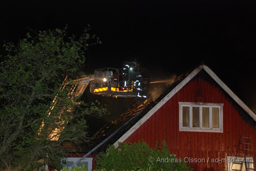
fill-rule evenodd
<path id="1" fill-rule="evenodd" d="M 192 73 L 190 73 L 182 82 L 180 82 L 170 93 L 168 93 L 160 102 L 158 102 L 152 109 L 148 111 L 135 125 L 132 126 L 123 136 L 121 136 L 115 143 L 114 146 L 118 147 L 118 142 L 124 142 L 136 129 L 138 129 L 148 118 L 150 118 L 165 102 L 167 102 L 174 94 L 176 94 L 184 85 L 186 85 L 196 74 L 204 69 L 214 81 L 216 81 L 222 89 L 224 89 L 230 97 L 232 97 L 238 105 L 240 105 L 245 112 L 247 112 L 253 120 L 256 121 L 256 115 L 252 110 L 240 100 L 235 93 L 233 93 L 224 82 L 208 67 L 205 65 L 198 66 Z"/>

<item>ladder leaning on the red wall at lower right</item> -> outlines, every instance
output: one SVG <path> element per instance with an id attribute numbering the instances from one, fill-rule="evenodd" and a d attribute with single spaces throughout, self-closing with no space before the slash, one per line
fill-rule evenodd
<path id="1" fill-rule="evenodd" d="M 245 139 L 245 141 L 244 141 Z M 246 141 L 247 140 L 247 141 Z M 242 142 L 242 143 L 241 143 Z M 251 170 L 256 170 L 255 169 L 255 163 L 254 163 L 254 154 L 253 154 L 253 150 L 252 150 L 252 141 L 251 141 L 251 137 L 245 137 L 245 136 L 242 136 L 241 135 L 241 138 L 240 138 L 240 142 L 239 142 L 239 146 L 240 144 L 243 145 L 243 149 L 240 149 L 240 150 L 243 150 L 244 152 L 244 165 L 245 165 L 245 170 L 246 171 L 251 171 Z M 238 146 L 238 148 L 239 148 Z M 249 147 L 248 147 L 249 146 Z M 251 155 L 248 155 L 247 153 L 251 153 Z M 252 161 L 249 161 L 247 162 L 247 159 L 246 157 L 252 157 Z M 253 167 L 249 167 L 249 164 L 252 164 L 251 166 Z M 233 169 L 235 170 L 235 169 Z M 242 170 L 242 163 L 241 163 L 241 167 L 240 167 L 240 171 Z"/>

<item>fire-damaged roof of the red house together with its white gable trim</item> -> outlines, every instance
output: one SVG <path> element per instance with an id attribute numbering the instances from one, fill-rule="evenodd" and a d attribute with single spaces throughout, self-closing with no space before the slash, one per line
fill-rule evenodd
<path id="1" fill-rule="evenodd" d="M 213 71 L 206 65 L 200 64 L 191 72 L 180 75 L 175 79 L 175 81 L 167 88 L 164 93 L 158 97 L 155 101 L 151 101 L 144 105 L 135 105 L 134 109 L 122 114 L 120 120 L 113 122 L 110 125 L 106 124 L 100 129 L 94 136 L 93 144 L 94 147 L 88 153 L 84 155 L 81 159 L 87 157 L 91 153 L 98 153 L 104 151 L 110 144 L 118 146 L 118 142 L 124 142 L 132 133 L 139 128 L 149 117 L 151 117 L 162 105 L 164 105 L 170 98 L 172 98 L 182 87 L 184 87 L 191 79 L 193 79 L 201 70 L 204 70 L 210 78 L 212 78 L 219 86 L 231 97 L 233 100 L 246 112 L 248 113 L 254 121 L 256 121 L 256 115 L 252 110 L 240 100 L 235 93 L 233 93 L 226 84 L 224 84 L 220 78 L 213 73 Z M 120 126 L 121 125 L 121 126 Z M 111 128 L 111 130 L 109 130 Z M 107 133 L 107 134 L 105 134 Z M 102 135 L 104 134 L 104 135 Z M 89 147 L 90 148 L 90 147 Z M 81 160 L 80 159 L 80 160 Z M 79 161 L 77 161 L 79 162 Z"/>

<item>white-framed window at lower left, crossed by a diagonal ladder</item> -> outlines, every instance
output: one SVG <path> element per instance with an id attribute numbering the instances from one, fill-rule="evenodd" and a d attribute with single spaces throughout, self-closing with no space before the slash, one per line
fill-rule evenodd
<path id="1" fill-rule="evenodd" d="M 68 158 L 64 158 L 62 161 L 62 166 L 63 167 L 70 167 L 72 166 L 77 160 L 79 160 L 79 157 L 68 157 Z M 66 161 L 65 161 L 66 160 Z M 76 166 L 81 166 L 84 165 L 88 171 L 92 170 L 92 158 L 85 158 L 83 159 L 83 161 L 81 161 L 80 163 L 78 163 Z"/>

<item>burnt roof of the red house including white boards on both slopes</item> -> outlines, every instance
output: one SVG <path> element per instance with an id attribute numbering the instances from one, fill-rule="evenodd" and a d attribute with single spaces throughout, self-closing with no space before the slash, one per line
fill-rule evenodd
<path id="1" fill-rule="evenodd" d="M 145 115 L 153 114 L 151 111 L 153 108 L 156 108 L 156 104 L 160 101 L 161 103 L 165 100 L 168 100 L 172 97 L 171 94 L 175 94 L 181 87 L 183 87 L 188 81 L 190 81 L 199 71 L 204 69 L 213 80 L 215 80 L 228 95 L 235 100 L 235 102 L 246 112 L 248 113 L 253 120 L 256 121 L 256 115 L 248 108 L 217 76 L 212 72 L 212 70 L 205 66 L 203 63 L 200 63 L 195 68 L 189 70 L 185 74 L 178 76 L 169 86 L 164 90 L 164 92 L 154 101 L 145 100 L 143 103 L 136 103 L 126 112 L 122 113 L 120 117 L 115 120 L 112 120 L 105 124 L 98 132 L 96 132 L 91 140 L 91 143 L 87 145 L 86 148 L 82 148 L 82 152 L 89 152 L 92 155 L 97 155 L 100 152 L 105 151 L 109 145 L 117 143 L 120 139 L 125 140 L 127 132 L 130 131 L 130 128 L 134 126 L 140 126 L 138 121 L 142 119 Z M 168 95 L 168 96 L 167 96 Z M 151 113 L 149 112 L 151 111 Z M 145 116 L 146 117 L 146 116 Z M 145 118 L 144 117 L 144 118 Z M 146 117 L 147 118 L 147 117 Z M 139 123 L 139 124 L 138 124 Z M 127 136 L 131 134 L 128 133 Z M 85 147 L 85 146 L 84 146 Z M 93 150 L 92 150 L 93 149 Z M 88 153 L 87 153 L 88 154 Z"/>

